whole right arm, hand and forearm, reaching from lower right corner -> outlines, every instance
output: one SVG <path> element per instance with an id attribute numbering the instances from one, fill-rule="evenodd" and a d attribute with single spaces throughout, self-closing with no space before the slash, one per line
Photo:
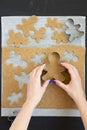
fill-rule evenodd
<path id="1" fill-rule="evenodd" d="M 87 101 L 85 98 L 84 90 L 82 88 L 81 78 L 77 69 L 71 64 L 61 63 L 61 65 L 68 69 L 71 76 L 71 81 L 69 84 L 65 85 L 64 83 L 56 80 L 56 84 L 63 88 L 67 94 L 75 101 L 80 111 L 85 130 L 87 130 Z"/>

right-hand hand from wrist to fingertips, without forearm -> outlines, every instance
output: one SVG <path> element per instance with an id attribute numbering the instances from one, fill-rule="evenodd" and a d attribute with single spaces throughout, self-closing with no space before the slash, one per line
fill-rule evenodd
<path id="1" fill-rule="evenodd" d="M 71 81 L 66 85 L 59 80 L 55 80 L 56 84 L 64 89 L 67 94 L 77 103 L 78 100 L 85 98 L 80 75 L 73 65 L 64 62 L 62 62 L 61 65 L 68 69 L 68 72 L 71 76 Z"/>

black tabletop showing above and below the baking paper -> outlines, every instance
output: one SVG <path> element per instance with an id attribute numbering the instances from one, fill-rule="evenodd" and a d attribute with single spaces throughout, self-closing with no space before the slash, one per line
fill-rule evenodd
<path id="1" fill-rule="evenodd" d="M 0 16 L 32 14 L 38 16 L 87 16 L 87 4 L 86 0 L 0 0 Z M 0 117 L 0 130 L 8 130 L 10 125 L 7 117 Z M 29 130 L 84 130 L 84 128 L 80 118 L 32 117 Z"/>

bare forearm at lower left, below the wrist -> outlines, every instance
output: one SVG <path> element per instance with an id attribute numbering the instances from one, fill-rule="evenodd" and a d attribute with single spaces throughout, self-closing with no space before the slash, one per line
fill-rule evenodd
<path id="1" fill-rule="evenodd" d="M 25 102 L 9 130 L 27 130 L 33 110 L 33 104 Z"/>

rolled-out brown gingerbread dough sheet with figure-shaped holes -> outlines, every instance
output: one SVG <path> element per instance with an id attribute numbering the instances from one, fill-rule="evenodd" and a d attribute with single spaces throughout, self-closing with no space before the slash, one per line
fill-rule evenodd
<path id="1" fill-rule="evenodd" d="M 14 50 L 16 54 L 21 54 L 22 58 L 28 62 L 28 67 L 26 69 L 21 69 L 20 66 L 13 69 L 13 65 L 6 65 L 6 59 L 9 58 L 9 52 Z M 71 64 L 75 65 L 76 68 L 79 70 L 79 73 L 82 78 L 82 83 L 84 86 L 84 57 L 85 57 L 85 49 L 83 47 L 76 47 L 76 46 L 69 46 L 69 45 L 61 45 L 58 48 L 52 47 L 50 49 L 35 49 L 35 48 L 3 48 L 2 49 L 2 60 L 3 60 L 3 107 L 20 107 L 25 101 L 26 98 L 26 84 L 24 83 L 23 86 L 20 88 L 19 81 L 15 80 L 14 75 L 21 75 L 21 72 L 26 72 L 29 74 L 30 71 L 34 68 L 33 63 L 29 60 L 29 57 L 32 57 L 35 53 L 42 53 L 44 52 L 46 56 L 49 53 L 55 51 L 60 54 L 60 57 L 63 55 L 64 50 L 72 51 L 74 50 L 74 54 L 78 56 L 78 62 L 71 62 Z M 82 52 L 82 53 L 80 53 Z M 47 59 L 44 59 L 43 62 L 46 62 Z M 5 71 L 4 71 L 5 70 Z M 9 77 L 9 78 L 6 78 Z M 23 80 L 23 79 L 21 79 Z M 7 91 L 7 88 L 9 91 Z M 10 105 L 9 100 L 7 100 L 7 96 L 11 95 L 12 92 L 22 92 L 24 94 L 23 98 L 20 99 L 19 103 L 13 103 Z M 50 98 L 51 97 L 51 100 Z M 69 96 L 59 87 L 54 84 L 49 85 L 47 91 L 39 104 L 38 107 L 41 108 L 74 108 L 75 104 L 69 98 Z"/>

